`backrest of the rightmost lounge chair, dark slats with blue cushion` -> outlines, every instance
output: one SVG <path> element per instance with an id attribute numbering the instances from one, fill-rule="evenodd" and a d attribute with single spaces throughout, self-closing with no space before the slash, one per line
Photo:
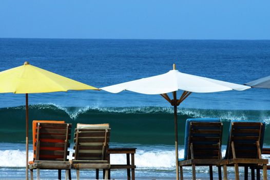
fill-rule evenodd
<path id="1" fill-rule="evenodd" d="M 233 158 L 232 142 L 234 142 L 236 158 L 258 158 L 258 150 L 262 149 L 264 128 L 264 122 L 231 121 L 224 159 Z"/>

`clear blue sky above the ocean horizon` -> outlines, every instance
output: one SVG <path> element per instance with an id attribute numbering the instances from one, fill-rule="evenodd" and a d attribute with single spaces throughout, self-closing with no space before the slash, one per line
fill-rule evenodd
<path id="1" fill-rule="evenodd" d="M 1 0 L 0 38 L 270 39 L 270 1 Z"/>

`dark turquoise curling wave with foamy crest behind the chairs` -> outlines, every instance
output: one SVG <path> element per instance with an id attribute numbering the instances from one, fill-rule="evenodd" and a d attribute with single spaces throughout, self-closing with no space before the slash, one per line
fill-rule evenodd
<path id="1" fill-rule="evenodd" d="M 72 123 L 109 123 L 111 141 L 118 143 L 139 143 L 142 145 L 173 145 L 174 123 L 172 107 L 62 107 L 53 104 L 29 106 L 29 118 L 33 120 L 57 119 Z M 0 142 L 24 142 L 25 107 L 0 109 L 0 117 L 12 119 L 3 121 L 0 127 Z M 185 120 L 187 118 L 220 118 L 223 122 L 223 144 L 227 142 L 231 119 L 265 121 L 265 145 L 270 145 L 270 111 L 263 110 L 204 110 L 178 109 L 179 144 L 184 145 Z M 31 122 L 31 121 L 30 121 Z M 32 124 L 29 133 L 32 134 Z M 169 139 L 172 139 L 171 141 Z M 32 140 L 32 136 L 29 136 Z"/>

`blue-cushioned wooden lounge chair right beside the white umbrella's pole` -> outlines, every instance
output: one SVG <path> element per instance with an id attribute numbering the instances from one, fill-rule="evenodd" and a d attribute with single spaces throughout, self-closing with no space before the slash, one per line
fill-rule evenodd
<path id="1" fill-rule="evenodd" d="M 219 119 L 187 119 L 184 158 L 179 159 L 180 178 L 183 166 L 192 166 L 192 179 L 196 179 L 196 166 L 209 166 L 213 179 L 213 166 L 219 165 L 223 124 Z M 221 174 L 219 168 L 219 175 Z"/>

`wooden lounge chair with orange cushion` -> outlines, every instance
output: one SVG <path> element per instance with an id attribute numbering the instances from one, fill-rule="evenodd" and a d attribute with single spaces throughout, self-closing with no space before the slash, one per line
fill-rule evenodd
<path id="1" fill-rule="evenodd" d="M 38 122 L 35 131 L 35 158 L 28 166 L 31 179 L 33 179 L 33 169 L 36 169 L 37 179 L 40 179 L 40 169 L 65 169 L 67 179 L 68 170 L 71 168 L 71 164 L 67 159 L 71 124 Z"/>

